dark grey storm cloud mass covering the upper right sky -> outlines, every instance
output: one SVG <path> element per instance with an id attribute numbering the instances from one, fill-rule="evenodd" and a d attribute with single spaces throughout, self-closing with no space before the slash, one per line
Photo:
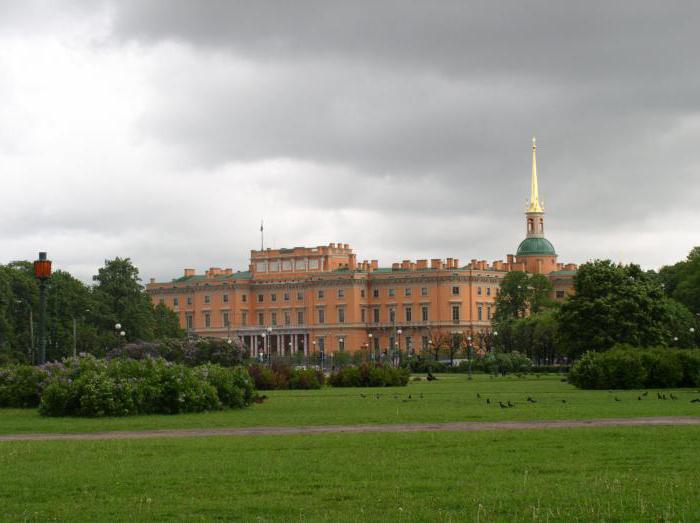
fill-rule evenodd
<path id="1" fill-rule="evenodd" d="M 607 226 L 584 218 L 593 200 L 599 215 L 625 221 L 651 193 L 666 204 L 694 196 L 679 188 L 692 172 L 682 174 L 684 162 L 696 158 L 669 162 L 658 151 L 661 134 L 700 110 L 693 3 L 183 0 L 113 9 L 120 39 L 175 41 L 255 65 L 253 79 L 217 58 L 197 74 L 166 68 L 156 79 L 177 85 L 144 129 L 201 164 L 338 163 L 368 189 L 377 176 L 400 184 L 430 175 L 480 195 L 470 204 L 486 210 L 499 196 L 525 196 L 537 134 L 543 190 L 579 224 Z M 661 184 L 668 169 L 678 174 Z M 319 205 L 337 200 L 332 190 L 319 196 Z M 439 207 L 460 203 L 448 195 Z"/>

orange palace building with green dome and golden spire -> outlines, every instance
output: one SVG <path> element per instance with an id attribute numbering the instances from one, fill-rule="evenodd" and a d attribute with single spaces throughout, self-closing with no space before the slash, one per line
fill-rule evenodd
<path id="1" fill-rule="evenodd" d="M 544 236 L 544 208 L 532 145 L 526 238 L 506 261 L 456 258 L 403 260 L 379 267 L 357 261 L 346 243 L 251 251 L 246 271 L 185 269 L 171 282 L 147 285 L 189 334 L 237 337 L 251 356 L 316 351 L 372 352 L 426 349 L 440 334 L 491 328 L 499 285 L 508 271 L 546 274 L 554 297 L 572 288 L 576 266 L 557 262 Z"/>

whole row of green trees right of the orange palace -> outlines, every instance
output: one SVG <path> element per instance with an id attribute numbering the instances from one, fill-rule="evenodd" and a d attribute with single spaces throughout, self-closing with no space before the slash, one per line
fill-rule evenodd
<path id="1" fill-rule="evenodd" d="M 700 247 L 658 272 L 610 260 L 585 263 L 572 296 L 560 304 L 551 294 L 544 276 L 508 273 L 496 298 L 495 347 L 549 364 L 620 344 L 700 345 Z"/>

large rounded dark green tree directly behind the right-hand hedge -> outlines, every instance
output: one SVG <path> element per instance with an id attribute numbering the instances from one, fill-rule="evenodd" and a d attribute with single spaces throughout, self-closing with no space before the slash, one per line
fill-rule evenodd
<path id="1" fill-rule="evenodd" d="M 690 312 L 674 305 L 638 265 L 586 263 L 578 269 L 574 290 L 558 314 L 561 340 L 572 357 L 617 343 L 668 346 L 676 330 L 689 331 L 693 324 Z"/>

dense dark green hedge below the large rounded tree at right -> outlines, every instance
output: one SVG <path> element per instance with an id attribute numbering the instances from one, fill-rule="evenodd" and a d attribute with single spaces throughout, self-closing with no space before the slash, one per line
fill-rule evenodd
<path id="1" fill-rule="evenodd" d="M 640 349 L 618 346 L 587 352 L 569 371 L 582 389 L 641 389 L 700 386 L 700 349 Z"/>

